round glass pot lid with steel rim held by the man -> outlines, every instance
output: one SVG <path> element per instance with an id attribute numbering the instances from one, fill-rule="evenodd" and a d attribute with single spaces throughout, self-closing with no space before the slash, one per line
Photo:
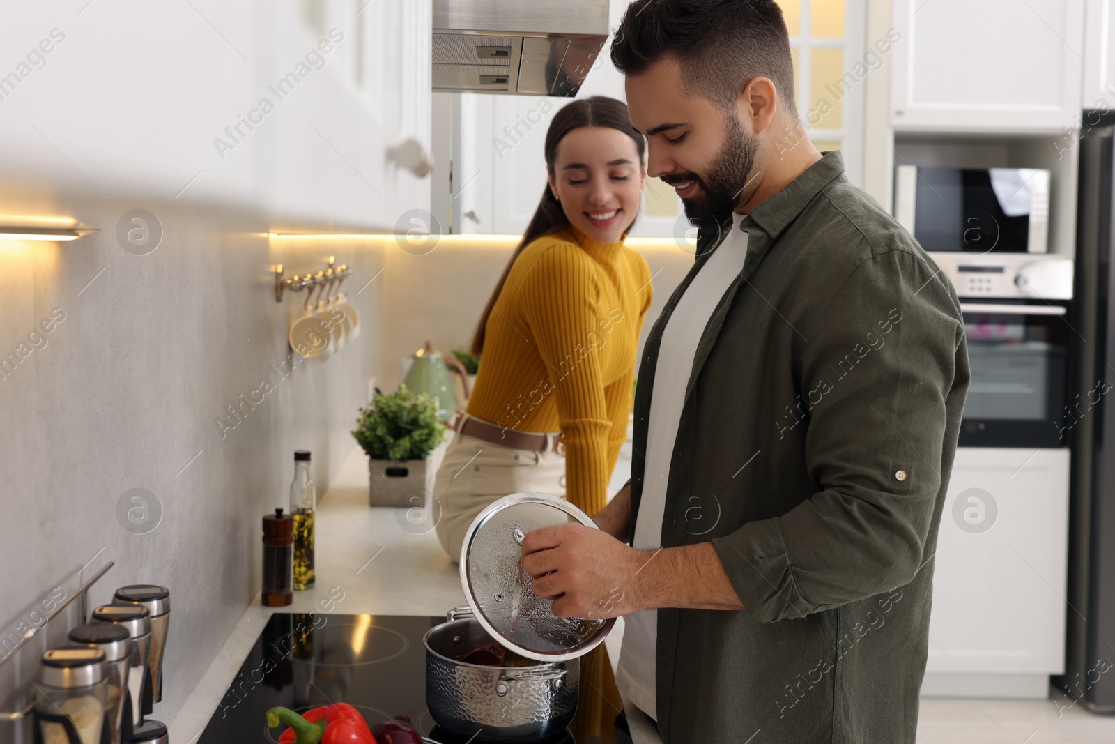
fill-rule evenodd
<path id="1" fill-rule="evenodd" d="M 580 522 L 597 528 L 588 514 L 546 493 L 520 492 L 488 504 L 465 533 L 460 586 L 481 626 L 502 646 L 537 661 L 563 661 L 588 654 L 615 625 L 607 620 L 560 618 L 552 600 L 534 593 L 534 579 L 522 570 L 522 541 L 542 526 Z"/>

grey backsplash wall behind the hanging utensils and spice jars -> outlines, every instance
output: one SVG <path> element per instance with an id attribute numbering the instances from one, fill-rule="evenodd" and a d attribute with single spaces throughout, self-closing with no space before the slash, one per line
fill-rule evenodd
<path id="1" fill-rule="evenodd" d="M 0 356 L 27 355 L 0 379 L 0 639 L 103 551 L 94 568 L 116 566 L 91 606 L 128 583 L 172 591 L 169 682 L 156 709 L 169 719 L 259 592 L 260 519 L 287 505 L 293 451 L 312 451 L 319 494 L 353 452 L 348 432 L 379 364 L 386 282 L 357 290 L 384 267 L 384 250 L 269 240 L 268 220 L 213 204 L 60 202 L 56 213 L 100 232 L 0 242 Z M 164 230 L 146 255 L 116 236 L 135 207 Z M 304 293 L 277 303 L 271 267 L 303 273 L 330 253 L 355 268 L 345 289 L 361 334 L 323 363 L 292 365 L 288 317 Z M 229 406 L 242 412 L 234 427 Z M 133 489 L 162 509 L 146 533 L 126 516 L 140 506 L 125 497 Z M 0 697 L 33 673 L 36 654 L 20 656 L 30 658 L 0 668 Z"/>

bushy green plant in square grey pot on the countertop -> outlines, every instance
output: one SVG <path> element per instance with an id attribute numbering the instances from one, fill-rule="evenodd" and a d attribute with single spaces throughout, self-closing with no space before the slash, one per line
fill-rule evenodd
<path id="1" fill-rule="evenodd" d="M 360 408 L 352 436 L 368 455 L 368 504 L 414 506 L 410 495 L 425 491 L 426 457 L 445 438 L 445 424 L 428 395 L 399 383 Z"/>

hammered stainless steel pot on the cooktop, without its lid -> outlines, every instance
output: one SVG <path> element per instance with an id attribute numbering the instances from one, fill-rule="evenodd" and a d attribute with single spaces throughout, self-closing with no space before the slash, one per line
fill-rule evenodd
<path id="1" fill-rule="evenodd" d="M 423 637 L 426 707 L 437 724 L 462 736 L 536 742 L 569 726 L 576 714 L 579 658 L 535 666 L 482 666 L 458 660 L 492 642 L 467 606 Z"/>

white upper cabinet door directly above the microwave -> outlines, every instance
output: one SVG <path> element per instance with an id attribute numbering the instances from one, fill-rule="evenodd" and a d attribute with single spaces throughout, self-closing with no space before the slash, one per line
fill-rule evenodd
<path id="1" fill-rule="evenodd" d="M 1084 2 L 894 0 L 902 35 L 891 71 L 894 128 L 1051 133 L 1073 125 Z"/>

